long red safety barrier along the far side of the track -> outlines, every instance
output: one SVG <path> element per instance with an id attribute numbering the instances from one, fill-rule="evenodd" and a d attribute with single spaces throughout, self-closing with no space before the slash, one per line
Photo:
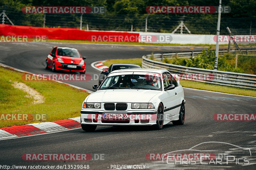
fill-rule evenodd
<path id="1" fill-rule="evenodd" d="M 13 26 L 0 24 L 0 36 L 28 36 L 47 35 L 49 39 L 59 40 L 88 40 L 92 41 L 104 39 L 104 41 L 133 41 L 139 42 L 134 37 L 139 37 L 139 33 L 112 32 L 112 31 L 84 31 L 76 28 L 44 28 L 35 26 Z M 95 38 L 96 36 L 96 38 Z M 105 36 L 105 37 L 104 37 Z M 107 37 L 106 37 L 107 36 Z M 115 38 L 117 37 L 118 38 Z M 124 38 L 122 38 L 122 36 Z M 121 37 L 121 38 L 120 38 Z"/>

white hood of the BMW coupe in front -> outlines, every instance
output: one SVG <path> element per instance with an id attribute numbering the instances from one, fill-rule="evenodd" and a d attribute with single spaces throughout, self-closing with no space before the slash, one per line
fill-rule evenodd
<path id="1" fill-rule="evenodd" d="M 141 89 L 108 89 L 98 90 L 90 94 L 86 102 L 127 102 L 148 103 L 149 100 L 161 91 Z"/>

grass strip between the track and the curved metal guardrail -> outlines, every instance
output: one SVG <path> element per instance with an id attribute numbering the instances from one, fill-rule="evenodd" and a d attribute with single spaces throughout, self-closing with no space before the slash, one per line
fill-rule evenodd
<path id="1" fill-rule="evenodd" d="M 113 59 L 113 60 L 107 60 L 103 64 L 105 64 L 106 66 L 110 66 L 111 64 L 114 64 L 114 63 L 128 63 L 128 64 L 138 64 L 141 66 L 141 62 L 142 62 L 142 58 Z M 222 86 L 222 85 L 212 85 L 208 83 L 188 81 L 188 80 L 181 80 L 180 84 L 183 87 L 188 87 L 188 88 L 256 97 L 256 90 L 251 90 L 251 89 L 228 87 L 228 86 Z"/>

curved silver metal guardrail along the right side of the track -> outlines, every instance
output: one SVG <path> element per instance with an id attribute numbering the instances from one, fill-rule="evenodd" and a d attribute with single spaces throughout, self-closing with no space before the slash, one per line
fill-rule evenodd
<path id="1" fill-rule="evenodd" d="M 248 52 L 255 51 L 256 49 L 246 49 Z M 235 50 L 231 50 L 235 52 Z M 220 53 L 227 52 L 227 50 L 222 50 Z M 175 52 L 175 53 L 162 53 L 154 54 L 154 59 L 161 60 L 164 56 L 173 57 L 179 56 L 180 58 L 185 58 L 186 56 L 193 56 L 195 54 L 201 54 L 202 51 L 194 52 Z M 142 56 L 142 68 L 148 69 L 165 69 L 169 70 L 171 73 L 180 75 L 180 79 L 187 79 L 192 81 L 205 82 L 216 85 L 226 85 L 233 87 L 242 87 L 249 89 L 256 89 L 256 75 L 254 74 L 244 74 L 228 71 L 219 71 L 219 70 L 209 70 L 209 69 L 200 69 L 194 67 L 186 67 L 174 64 L 163 63 L 155 60 L 150 60 L 151 55 Z M 194 77 L 193 77 L 194 76 Z M 205 77 L 197 79 L 198 76 Z M 191 78 L 192 77 L 192 78 Z M 196 78 L 196 79 L 195 79 Z"/>

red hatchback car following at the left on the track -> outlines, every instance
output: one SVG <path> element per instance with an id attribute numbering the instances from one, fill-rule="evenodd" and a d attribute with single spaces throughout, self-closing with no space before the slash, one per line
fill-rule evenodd
<path id="1" fill-rule="evenodd" d="M 45 60 L 45 69 L 52 71 L 63 70 L 85 73 L 85 63 L 79 51 L 76 48 L 53 47 L 51 53 Z"/>

